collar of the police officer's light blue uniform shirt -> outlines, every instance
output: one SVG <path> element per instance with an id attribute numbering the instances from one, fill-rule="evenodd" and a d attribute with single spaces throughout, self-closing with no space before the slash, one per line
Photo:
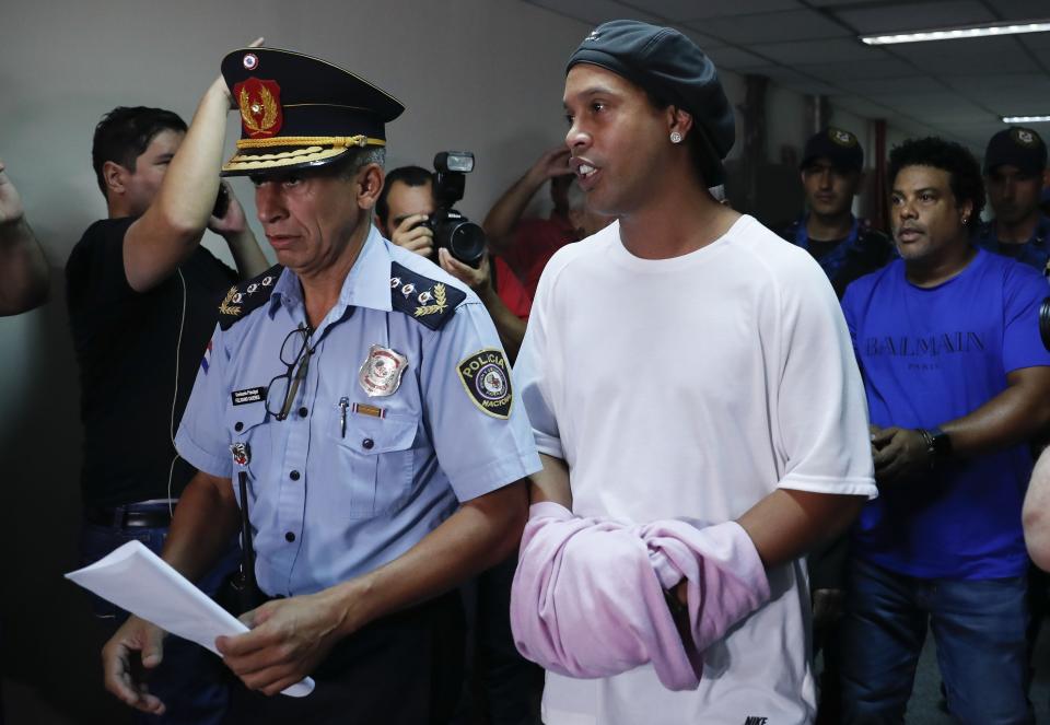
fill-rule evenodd
<path id="1" fill-rule="evenodd" d="M 350 307 L 369 307 L 390 312 L 390 262 L 389 252 L 383 244 L 375 226 L 369 226 L 369 236 L 365 237 L 350 273 L 342 282 L 339 292 L 339 302 L 328 314 L 329 318 L 341 318 Z M 283 304 L 290 312 L 303 306 L 303 289 L 295 273 L 285 269 L 277 284 L 273 285 L 273 296 L 270 299 L 270 318 L 273 317 L 277 306 Z"/>

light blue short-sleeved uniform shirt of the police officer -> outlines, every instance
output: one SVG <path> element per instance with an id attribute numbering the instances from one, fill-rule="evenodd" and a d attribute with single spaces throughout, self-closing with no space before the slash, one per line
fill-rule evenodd
<path id="1" fill-rule="evenodd" d="M 339 302 L 310 338 L 315 352 L 287 419 L 268 414 L 264 399 L 245 402 L 252 395 L 234 405 L 233 394 L 288 371 L 281 344 L 306 321 L 291 270 L 242 287 L 237 302 L 248 290 L 272 294 L 228 329 L 217 327 L 201 363 L 176 448 L 198 469 L 234 478 L 235 493 L 237 471 L 247 470 L 256 576 L 269 595 L 310 594 L 370 572 L 408 551 L 458 502 L 540 469 L 524 407 L 513 401 L 505 419 L 485 412 L 486 388 L 479 382 L 481 394 L 472 396 L 458 373 L 479 351 L 502 354 L 485 307 L 467 291 L 432 330 L 393 309 L 392 288 L 400 289 L 392 261 L 463 289 L 372 229 Z M 408 359 L 392 395 L 369 397 L 359 379 L 372 346 Z M 498 375 L 489 378 L 497 393 L 500 384 Z M 354 404 L 383 417 L 355 412 Z M 249 446 L 245 468 L 231 456 L 237 442 Z"/>

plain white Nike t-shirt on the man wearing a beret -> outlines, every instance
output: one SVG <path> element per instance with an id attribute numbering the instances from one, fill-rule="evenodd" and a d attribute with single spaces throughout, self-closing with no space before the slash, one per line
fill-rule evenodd
<path id="1" fill-rule="evenodd" d="M 713 524 L 777 488 L 875 495 L 864 390 L 831 285 L 750 217 L 673 259 L 634 257 L 617 223 L 559 250 L 514 376 L 583 516 Z M 548 673 L 544 721 L 810 722 L 803 563 L 769 580 L 771 600 L 707 651 L 697 691 L 664 689 L 651 666 L 598 680 Z"/>

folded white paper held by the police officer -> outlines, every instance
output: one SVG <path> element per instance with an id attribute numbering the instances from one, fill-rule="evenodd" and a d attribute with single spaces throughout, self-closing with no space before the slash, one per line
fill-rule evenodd
<path id="1" fill-rule="evenodd" d="M 215 654 L 217 636 L 248 631 L 140 541 L 128 541 L 95 563 L 66 574 L 66 578 Z M 307 677 L 281 693 L 302 698 L 313 690 L 314 680 Z"/>

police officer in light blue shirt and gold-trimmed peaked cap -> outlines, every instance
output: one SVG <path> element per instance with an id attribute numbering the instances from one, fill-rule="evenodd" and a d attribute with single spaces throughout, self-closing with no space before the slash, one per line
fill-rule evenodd
<path id="1" fill-rule="evenodd" d="M 243 685 L 234 722 L 444 722 L 463 657 L 451 590 L 518 542 L 520 480 L 540 467 L 528 422 L 477 296 L 372 225 L 402 106 L 285 50 L 236 50 L 222 72 L 243 121 L 223 171 L 252 177 L 280 265 L 220 306 L 176 436 L 200 472 L 164 559 L 205 570 L 247 506 L 269 601 L 217 641 Z M 129 659 L 162 651 L 129 620 L 107 687 L 161 710 Z M 307 675 L 312 694 L 264 697 Z"/>

